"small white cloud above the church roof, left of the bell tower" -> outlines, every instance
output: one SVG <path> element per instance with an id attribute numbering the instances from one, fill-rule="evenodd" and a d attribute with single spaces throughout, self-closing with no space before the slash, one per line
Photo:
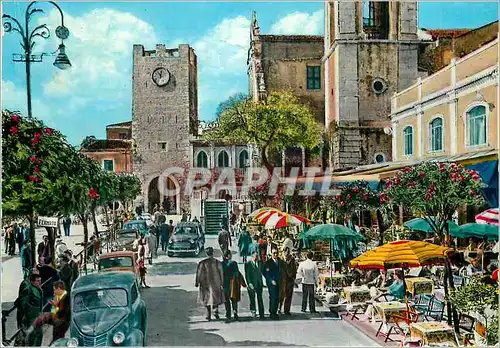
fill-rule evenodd
<path id="1" fill-rule="evenodd" d="M 324 11 L 314 13 L 294 12 L 271 26 L 270 34 L 276 35 L 323 35 Z"/>

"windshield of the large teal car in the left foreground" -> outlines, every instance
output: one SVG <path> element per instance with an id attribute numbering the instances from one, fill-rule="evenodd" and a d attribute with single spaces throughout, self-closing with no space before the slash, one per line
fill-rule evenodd
<path id="1" fill-rule="evenodd" d="M 76 294 L 73 312 L 83 312 L 97 308 L 127 307 L 127 292 L 124 289 L 90 290 Z"/>

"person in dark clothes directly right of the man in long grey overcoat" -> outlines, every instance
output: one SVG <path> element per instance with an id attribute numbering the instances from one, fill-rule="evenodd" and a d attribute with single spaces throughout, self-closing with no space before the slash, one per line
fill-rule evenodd
<path id="1" fill-rule="evenodd" d="M 246 286 L 240 276 L 238 264 L 232 259 L 231 250 L 224 253 L 222 261 L 222 274 L 224 278 L 224 298 L 226 307 L 226 321 L 231 320 L 231 310 L 234 320 L 238 320 L 238 302 L 241 300 L 241 286 Z"/>

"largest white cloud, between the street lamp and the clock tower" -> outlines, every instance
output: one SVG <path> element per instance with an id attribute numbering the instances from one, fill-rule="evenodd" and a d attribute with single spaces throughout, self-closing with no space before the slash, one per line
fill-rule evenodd
<path id="1" fill-rule="evenodd" d="M 59 20 L 59 14 L 53 11 L 40 22 L 55 27 Z M 64 20 L 70 30 L 65 45 L 72 67 L 57 71 L 44 85 L 45 95 L 69 97 L 73 108 L 99 101 L 120 103 L 130 98 L 132 46 L 140 43 L 154 47 L 157 38 L 153 27 L 133 14 L 106 8 L 80 17 L 66 13 Z M 58 41 L 51 40 L 50 45 L 57 47 Z"/>

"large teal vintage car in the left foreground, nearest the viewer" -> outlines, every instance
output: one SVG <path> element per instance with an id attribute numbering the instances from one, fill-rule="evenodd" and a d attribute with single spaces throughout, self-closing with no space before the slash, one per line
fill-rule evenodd
<path id="1" fill-rule="evenodd" d="M 146 305 L 131 272 L 93 273 L 71 291 L 70 338 L 54 346 L 145 346 Z"/>

